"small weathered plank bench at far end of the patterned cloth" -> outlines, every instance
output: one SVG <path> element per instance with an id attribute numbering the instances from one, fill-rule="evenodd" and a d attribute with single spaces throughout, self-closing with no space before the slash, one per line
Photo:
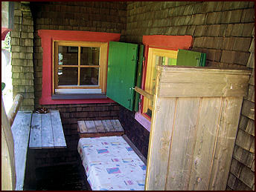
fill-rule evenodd
<path id="1" fill-rule="evenodd" d="M 122 136 L 124 128 L 118 119 L 77 121 L 77 131 L 82 137 Z"/>

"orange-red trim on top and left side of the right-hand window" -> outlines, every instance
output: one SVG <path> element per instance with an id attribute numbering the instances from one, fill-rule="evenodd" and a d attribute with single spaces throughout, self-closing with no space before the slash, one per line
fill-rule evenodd
<path id="1" fill-rule="evenodd" d="M 162 35 L 154 35 L 154 36 L 143 36 L 142 43 L 145 46 L 144 49 L 144 57 L 145 57 L 145 66 L 143 67 L 142 72 L 142 81 L 141 81 L 141 89 L 144 90 L 145 82 L 146 82 L 146 72 L 147 72 L 147 59 L 149 48 L 159 48 L 165 50 L 188 50 L 192 46 L 193 38 L 192 36 L 162 36 Z M 141 108 L 140 113 L 143 110 L 144 96 L 141 96 Z"/>

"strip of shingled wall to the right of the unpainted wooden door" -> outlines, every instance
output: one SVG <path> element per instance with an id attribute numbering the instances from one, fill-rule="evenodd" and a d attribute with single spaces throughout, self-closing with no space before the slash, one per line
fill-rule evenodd
<path id="1" fill-rule="evenodd" d="M 249 52 L 247 67 L 252 68 L 253 73 L 249 80 L 248 95 L 243 100 L 228 177 L 228 189 L 233 190 L 255 190 L 255 39 Z"/>

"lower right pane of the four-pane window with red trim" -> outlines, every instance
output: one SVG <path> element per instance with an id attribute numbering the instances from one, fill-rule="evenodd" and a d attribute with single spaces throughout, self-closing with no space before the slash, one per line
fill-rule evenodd
<path id="1" fill-rule="evenodd" d="M 81 68 L 80 85 L 98 85 L 99 68 Z"/>

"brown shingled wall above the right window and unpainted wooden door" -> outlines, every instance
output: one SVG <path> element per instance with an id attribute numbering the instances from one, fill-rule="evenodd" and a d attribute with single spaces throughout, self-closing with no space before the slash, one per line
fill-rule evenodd
<path id="1" fill-rule="evenodd" d="M 142 36 L 193 36 L 192 50 L 207 55 L 207 66 L 243 67 L 255 25 L 253 1 L 127 2 L 126 42 Z"/>

